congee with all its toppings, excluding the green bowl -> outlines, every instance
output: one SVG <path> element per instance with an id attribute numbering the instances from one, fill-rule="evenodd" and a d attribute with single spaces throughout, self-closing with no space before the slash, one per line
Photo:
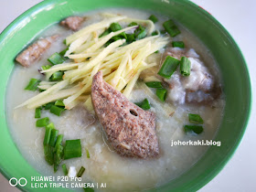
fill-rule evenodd
<path id="1" fill-rule="evenodd" d="M 206 153 L 207 145 L 183 142 L 213 140 L 225 100 L 197 37 L 133 9 L 59 24 L 21 50 L 8 85 L 9 127 L 29 164 L 43 176 L 81 177 L 95 191 L 138 191 Z"/>

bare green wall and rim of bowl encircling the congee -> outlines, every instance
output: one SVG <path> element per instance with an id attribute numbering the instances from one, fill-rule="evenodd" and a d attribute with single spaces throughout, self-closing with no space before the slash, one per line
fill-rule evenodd
<path id="1" fill-rule="evenodd" d="M 163 187 L 152 190 L 193 191 L 203 187 L 219 173 L 240 143 L 251 110 L 251 84 L 240 49 L 229 33 L 206 11 L 187 0 L 45 0 L 19 16 L 7 27 L 0 36 L 0 58 L 2 60 L 0 63 L 1 172 L 7 178 L 40 176 L 33 167 L 27 164 L 27 161 L 17 150 L 5 120 L 5 104 L 8 104 L 5 103 L 6 84 L 15 66 L 14 59 L 16 55 L 42 30 L 59 22 L 64 17 L 107 7 L 134 7 L 154 10 L 174 18 L 192 31 L 208 47 L 217 60 L 226 95 L 225 114 L 215 139 L 221 142 L 221 146 L 209 147 L 206 155 L 185 174 Z M 155 7 L 157 7 L 156 10 Z M 14 163 L 14 160 L 16 160 L 16 163 Z M 21 189 L 36 191 L 37 188 L 30 188 L 30 184 L 31 181 L 27 179 L 27 186 Z M 48 191 L 48 188 L 41 188 L 41 190 Z M 63 191 L 63 188 L 54 190 Z"/>

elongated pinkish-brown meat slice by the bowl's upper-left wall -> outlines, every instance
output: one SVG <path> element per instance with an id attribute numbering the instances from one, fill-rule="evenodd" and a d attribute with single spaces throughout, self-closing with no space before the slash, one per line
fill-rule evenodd
<path id="1" fill-rule="evenodd" d="M 40 38 L 29 46 L 26 50 L 22 51 L 17 57 L 16 61 L 24 67 L 29 67 L 37 59 L 40 59 L 43 53 L 50 48 L 51 44 L 59 37 L 58 35 L 46 38 Z"/>

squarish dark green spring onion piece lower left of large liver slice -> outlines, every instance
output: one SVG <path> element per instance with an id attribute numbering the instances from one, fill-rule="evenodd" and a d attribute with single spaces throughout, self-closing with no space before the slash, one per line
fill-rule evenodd
<path id="1" fill-rule="evenodd" d="M 81 156 L 80 139 L 66 140 L 64 148 L 64 159 L 70 159 Z"/>

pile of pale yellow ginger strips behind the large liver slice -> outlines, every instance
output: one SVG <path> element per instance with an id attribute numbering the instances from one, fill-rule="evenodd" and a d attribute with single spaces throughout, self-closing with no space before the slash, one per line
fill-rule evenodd
<path id="1" fill-rule="evenodd" d="M 155 25 L 151 20 L 112 14 L 103 16 L 105 18 L 101 22 L 84 27 L 66 37 L 69 49 L 65 57 L 69 58 L 69 62 L 42 70 L 41 73 L 46 74 L 46 80 L 41 81 L 38 88 L 45 91 L 17 107 L 27 106 L 28 109 L 34 109 L 48 102 L 64 99 L 63 102 L 67 110 L 82 101 L 87 110 L 92 112 L 91 82 L 99 70 L 102 71 L 103 79 L 106 82 L 129 98 L 141 72 L 156 66 L 156 63 L 146 63 L 146 58 L 160 48 L 164 48 L 170 39 L 161 36 L 159 31 L 158 35 L 151 36 L 155 31 Z M 105 47 L 112 37 L 123 32 L 128 33 L 137 27 L 125 27 L 104 37 L 99 37 L 114 22 L 120 22 L 126 26 L 131 22 L 136 22 L 146 28 L 147 36 L 127 45 L 125 39 L 119 39 Z M 65 71 L 62 80 L 59 82 L 49 81 L 49 77 L 56 71 Z"/>

